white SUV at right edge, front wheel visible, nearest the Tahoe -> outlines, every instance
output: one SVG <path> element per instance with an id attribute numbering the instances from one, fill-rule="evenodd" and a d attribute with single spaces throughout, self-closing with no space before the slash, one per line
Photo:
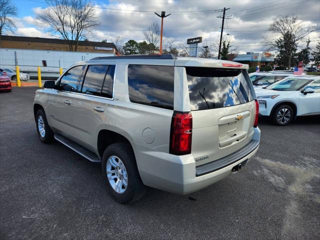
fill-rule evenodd
<path id="1" fill-rule="evenodd" d="M 286 125 L 296 116 L 320 114 L 320 76 L 288 76 L 264 88 L 255 88 L 259 114 Z"/>

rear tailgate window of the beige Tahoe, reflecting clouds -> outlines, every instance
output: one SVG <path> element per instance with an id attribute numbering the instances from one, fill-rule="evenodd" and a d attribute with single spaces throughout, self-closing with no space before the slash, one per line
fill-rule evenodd
<path id="1" fill-rule="evenodd" d="M 211 67 L 185 67 L 185 70 L 191 110 L 233 106 L 253 100 L 246 70 Z"/>

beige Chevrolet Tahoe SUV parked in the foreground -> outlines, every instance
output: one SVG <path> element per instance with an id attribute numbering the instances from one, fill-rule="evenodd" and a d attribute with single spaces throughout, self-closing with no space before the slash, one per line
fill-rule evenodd
<path id="1" fill-rule="evenodd" d="M 173 55 L 96 57 L 36 90 L 42 142 L 101 162 L 109 193 L 146 186 L 187 194 L 241 168 L 257 151 L 258 104 L 248 66 Z"/>

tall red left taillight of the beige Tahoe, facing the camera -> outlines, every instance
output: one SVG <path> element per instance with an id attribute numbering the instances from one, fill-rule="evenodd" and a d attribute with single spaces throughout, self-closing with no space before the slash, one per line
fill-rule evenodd
<path id="1" fill-rule="evenodd" d="M 191 112 L 174 111 L 170 130 L 170 153 L 184 155 L 191 153 L 192 115 Z"/>

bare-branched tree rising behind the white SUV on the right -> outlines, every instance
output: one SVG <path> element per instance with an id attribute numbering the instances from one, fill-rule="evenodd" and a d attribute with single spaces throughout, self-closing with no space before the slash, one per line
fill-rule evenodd
<path id="1" fill-rule="evenodd" d="M 267 50 L 277 50 L 282 60 L 285 61 L 284 65 L 290 68 L 298 41 L 314 30 L 314 26 L 303 25 L 297 16 L 280 15 L 274 18 L 269 26 L 269 31 L 273 35 L 270 38 L 265 38 Z"/>

